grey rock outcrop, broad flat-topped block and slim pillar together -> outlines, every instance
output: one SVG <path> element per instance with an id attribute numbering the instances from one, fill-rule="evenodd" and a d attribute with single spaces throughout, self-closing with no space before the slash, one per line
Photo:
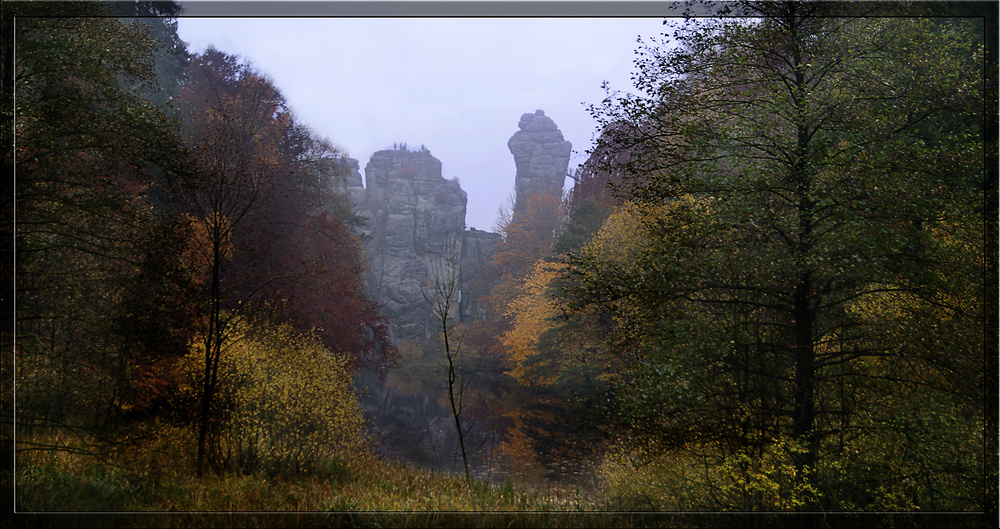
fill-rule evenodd
<path id="1" fill-rule="evenodd" d="M 524 114 L 507 142 L 514 155 L 515 211 L 532 194 L 562 193 L 572 144 L 542 110 Z M 430 301 L 434 278 L 453 264 L 459 268 L 456 316 L 481 313 L 477 301 L 489 293 L 487 270 L 500 235 L 465 229 L 468 197 L 456 180 L 441 176 L 441 161 L 421 147 L 377 151 L 365 166 L 346 159 L 339 167 L 355 214 L 365 219 L 362 234 L 370 269 L 369 295 L 389 318 L 391 339 L 436 338 Z"/>

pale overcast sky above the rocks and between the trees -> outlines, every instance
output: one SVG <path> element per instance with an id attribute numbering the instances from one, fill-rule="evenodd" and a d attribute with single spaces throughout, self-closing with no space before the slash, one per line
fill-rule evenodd
<path id="1" fill-rule="evenodd" d="M 587 104 L 607 80 L 631 91 L 636 38 L 660 18 L 194 18 L 191 52 L 249 59 L 299 120 L 361 164 L 425 145 L 468 193 L 466 226 L 492 230 L 514 189 L 507 140 L 542 109 L 573 143 L 570 171 L 596 131 Z M 567 188 L 572 181 L 567 178 Z"/>

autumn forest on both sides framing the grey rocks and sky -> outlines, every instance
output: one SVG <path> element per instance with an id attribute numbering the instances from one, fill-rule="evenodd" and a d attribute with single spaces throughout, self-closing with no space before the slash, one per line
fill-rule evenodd
<path id="1" fill-rule="evenodd" d="M 252 58 L 5 2 L 0 525 L 995 526 L 996 6 L 691 5 L 394 343 Z M 361 372 L 438 388 L 464 471 L 388 457 Z"/>

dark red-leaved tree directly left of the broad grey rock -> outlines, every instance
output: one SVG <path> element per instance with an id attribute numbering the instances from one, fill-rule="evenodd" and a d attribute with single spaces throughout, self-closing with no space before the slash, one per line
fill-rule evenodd
<path id="1" fill-rule="evenodd" d="M 365 296 L 365 252 L 352 230 L 357 219 L 338 191 L 347 165 L 308 131 L 304 141 L 294 172 L 266 205 L 264 251 L 247 266 L 273 279 L 260 297 L 283 305 L 300 332 L 315 331 L 352 369 L 381 371 L 394 349 L 386 318 Z"/>

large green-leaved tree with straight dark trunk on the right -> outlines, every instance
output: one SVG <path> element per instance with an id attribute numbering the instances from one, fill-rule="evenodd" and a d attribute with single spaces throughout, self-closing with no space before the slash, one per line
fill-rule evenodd
<path id="1" fill-rule="evenodd" d="M 895 428 L 860 424 L 853 390 L 923 387 L 875 365 L 939 365 L 872 342 L 885 320 L 852 307 L 886 293 L 942 303 L 932 277 L 954 261 L 933 233 L 983 222 L 968 216 L 984 189 L 983 48 L 959 21 L 749 7 L 641 48 L 647 95 L 597 109 L 602 144 L 628 152 L 620 189 L 650 214 L 633 265 L 591 251 L 571 277 L 579 300 L 618 316 L 634 424 L 720 461 L 787 446 L 787 486 L 806 490 L 832 475 L 841 439 Z M 840 492 L 821 494 L 800 508 L 838 508 Z"/>

